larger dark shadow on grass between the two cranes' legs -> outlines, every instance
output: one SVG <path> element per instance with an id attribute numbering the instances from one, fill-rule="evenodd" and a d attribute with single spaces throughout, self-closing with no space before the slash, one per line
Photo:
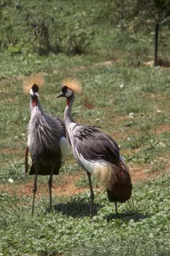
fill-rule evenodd
<path id="1" fill-rule="evenodd" d="M 93 216 L 100 208 L 99 204 L 93 203 Z M 71 217 L 88 217 L 90 216 L 90 199 L 88 203 L 83 198 L 73 198 L 70 202 L 58 203 L 54 206 L 54 210 Z"/>

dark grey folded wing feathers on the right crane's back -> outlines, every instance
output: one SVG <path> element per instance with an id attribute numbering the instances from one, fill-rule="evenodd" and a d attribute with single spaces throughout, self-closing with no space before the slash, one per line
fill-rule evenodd
<path id="1" fill-rule="evenodd" d="M 119 148 L 115 140 L 109 135 L 101 132 L 97 127 L 76 124 L 70 130 L 72 145 L 74 148 L 74 157 L 79 161 L 80 152 L 83 158 L 94 161 L 104 159 L 112 164 L 119 162 Z"/>

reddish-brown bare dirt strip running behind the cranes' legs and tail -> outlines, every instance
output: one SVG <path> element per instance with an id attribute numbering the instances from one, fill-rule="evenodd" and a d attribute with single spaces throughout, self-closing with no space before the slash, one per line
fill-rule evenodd
<path id="1" fill-rule="evenodd" d="M 131 173 L 131 179 L 133 183 L 147 181 L 150 178 L 155 178 L 161 173 L 169 170 L 170 164 L 167 164 L 166 170 L 146 172 L 149 170 L 151 165 L 130 165 L 129 170 Z M 63 176 L 63 184 L 58 186 L 57 181 L 53 183 L 53 195 L 60 196 L 73 196 L 81 193 L 87 188 L 77 188 L 75 187 L 76 181 L 83 176 L 84 173 L 78 173 L 75 176 Z M 49 195 L 48 185 L 47 184 L 37 184 L 38 190 L 36 192 L 36 197 L 42 197 Z M 5 192 L 10 195 L 18 195 L 20 197 L 31 196 L 33 191 L 34 181 L 28 182 L 26 184 L 0 184 L 0 192 Z"/>

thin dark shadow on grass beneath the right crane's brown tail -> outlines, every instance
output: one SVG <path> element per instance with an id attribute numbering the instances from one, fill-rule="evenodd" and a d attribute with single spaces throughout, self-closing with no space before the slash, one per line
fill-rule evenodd
<path id="1" fill-rule="evenodd" d="M 107 216 L 107 222 L 112 221 L 113 219 L 122 219 L 125 222 L 129 222 L 131 219 L 134 222 L 140 222 L 142 219 L 148 218 L 149 215 L 139 213 L 138 211 L 126 211 L 125 213 L 120 214 L 109 214 Z"/>

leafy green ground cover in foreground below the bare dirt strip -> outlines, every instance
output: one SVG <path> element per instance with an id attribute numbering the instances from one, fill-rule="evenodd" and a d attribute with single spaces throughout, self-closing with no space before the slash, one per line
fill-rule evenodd
<path id="1" fill-rule="evenodd" d="M 118 217 L 105 192 L 95 197 L 88 217 L 88 194 L 36 200 L 1 195 L 1 255 L 169 255 L 169 175 L 134 186 L 133 197 L 119 205 Z"/>

